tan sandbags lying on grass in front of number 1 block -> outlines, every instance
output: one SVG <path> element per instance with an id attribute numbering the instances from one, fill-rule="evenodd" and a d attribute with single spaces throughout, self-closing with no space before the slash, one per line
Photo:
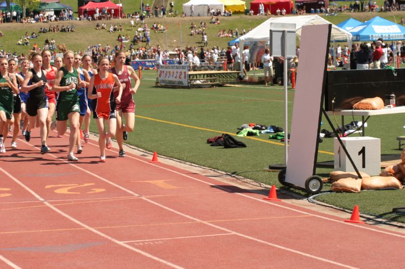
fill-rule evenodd
<path id="1" fill-rule="evenodd" d="M 399 180 L 393 176 L 369 176 L 360 172 L 361 179 L 355 172 L 334 171 L 330 173 L 332 191 L 343 191 L 345 193 L 359 193 L 361 189 L 401 189 Z"/>

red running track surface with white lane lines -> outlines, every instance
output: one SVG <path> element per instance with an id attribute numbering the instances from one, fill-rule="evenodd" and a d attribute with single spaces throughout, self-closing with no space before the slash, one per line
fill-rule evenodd
<path id="1" fill-rule="evenodd" d="M 37 131 L 0 156 L 0 267 L 400 267 L 405 235 Z M 54 135 L 54 133 L 52 134 Z M 6 145 L 9 146 L 10 139 Z M 35 146 L 35 147 L 34 147 Z"/>

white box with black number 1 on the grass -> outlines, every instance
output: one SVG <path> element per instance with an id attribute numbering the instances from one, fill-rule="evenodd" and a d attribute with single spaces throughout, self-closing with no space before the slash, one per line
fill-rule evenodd
<path id="1" fill-rule="evenodd" d="M 368 136 L 342 137 L 341 140 L 358 171 L 365 172 L 370 176 L 379 175 L 381 173 L 381 148 L 379 138 Z M 335 138 L 334 141 L 334 148 L 335 170 L 354 172 L 354 168 L 337 138 Z"/>

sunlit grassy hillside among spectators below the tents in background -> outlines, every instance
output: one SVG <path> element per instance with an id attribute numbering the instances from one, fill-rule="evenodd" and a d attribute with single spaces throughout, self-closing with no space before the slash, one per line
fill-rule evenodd
<path id="1" fill-rule="evenodd" d="M 76 4 L 77 5 L 77 4 Z M 369 20 L 374 16 L 381 16 L 388 20 L 399 22 L 401 16 L 404 15 L 403 12 L 395 12 L 395 13 L 341 13 L 337 16 L 327 16 L 325 17 L 327 20 L 331 21 L 334 24 L 338 24 L 350 17 L 355 18 L 360 21 Z M 221 23 L 219 25 L 210 24 L 209 17 L 186 17 L 186 18 L 150 18 L 146 19 L 145 22 L 148 25 L 152 25 L 154 22 L 160 22 L 163 25 L 168 25 L 169 30 L 167 32 L 167 41 L 168 41 L 168 48 L 174 49 L 176 47 L 180 47 L 180 40 L 182 39 L 182 44 L 184 46 L 201 46 L 201 35 L 190 35 L 190 24 L 194 22 L 198 24 L 200 21 L 208 23 L 208 42 L 209 47 L 212 46 L 220 46 L 226 47 L 227 42 L 232 40 L 232 37 L 218 37 L 217 33 L 220 29 L 235 29 L 238 28 L 241 31 L 242 28 L 248 30 L 249 28 L 254 28 L 263 21 L 267 20 L 269 17 L 265 16 L 245 16 L 245 15 L 235 15 L 232 17 L 221 17 Z M 85 50 L 88 46 L 92 46 L 95 44 L 100 44 L 101 46 L 105 46 L 109 44 L 114 46 L 118 44 L 117 36 L 118 33 L 121 35 L 129 34 L 129 36 L 133 37 L 134 31 L 131 31 L 129 19 L 114 19 L 111 21 L 106 21 L 107 26 L 109 24 L 123 24 L 124 31 L 123 32 L 116 32 L 116 33 L 109 33 L 106 30 L 96 30 L 95 25 L 96 22 L 89 22 L 89 21 L 72 21 L 69 24 L 73 24 L 76 26 L 76 32 L 64 33 L 44 33 L 40 34 L 37 39 L 30 40 L 30 46 L 17 46 L 17 41 L 19 37 L 23 36 L 25 32 L 31 33 L 32 31 L 38 32 L 40 27 L 49 27 L 50 25 L 59 24 L 61 26 L 63 22 L 53 22 L 53 23 L 35 23 L 35 24 L 3 24 L 1 26 L 1 30 L 4 33 L 3 37 L 0 37 L 0 46 L 3 50 L 10 50 L 12 53 L 16 52 L 18 54 L 27 53 L 27 51 L 32 47 L 34 43 L 38 46 L 42 47 L 46 38 L 55 39 L 57 44 L 65 43 L 68 45 L 70 49 L 75 51 L 78 50 Z M 179 29 L 179 22 L 181 27 L 182 35 L 180 35 Z M 66 25 L 66 23 L 64 23 Z M 129 43 L 125 45 L 129 46 Z M 143 44 L 144 45 L 144 44 Z M 164 49 L 166 49 L 166 33 L 154 33 L 151 32 L 151 46 L 160 45 Z"/>

